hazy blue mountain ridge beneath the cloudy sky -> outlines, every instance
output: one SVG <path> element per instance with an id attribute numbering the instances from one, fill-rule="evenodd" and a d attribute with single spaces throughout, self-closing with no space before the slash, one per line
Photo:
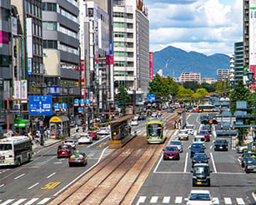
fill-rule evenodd
<path id="1" fill-rule="evenodd" d="M 168 46 L 161 51 L 153 52 L 153 73 L 160 69 L 163 76 L 178 78 L 183 72 L 200 72 L 201 78 L 217 79 L 217 69 L 229 69 L 230 57 L 225 54 L 206 56 L 195 51 L 183 51 L 177 47 Z"/>

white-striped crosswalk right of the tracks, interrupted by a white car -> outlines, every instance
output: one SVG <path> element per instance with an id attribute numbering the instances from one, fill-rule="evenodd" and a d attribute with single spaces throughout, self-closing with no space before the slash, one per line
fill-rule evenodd
<path id="1" fill-rule="evenodd" d="M 136 205 L 143 204 L 185 204 L 186 201 L 181 196 L 171 197 L 171 196 L 140 196 Z M 213 198 L 213 204 L 237 204 L 237 205 L 245 205 L 243 198 Z"/>

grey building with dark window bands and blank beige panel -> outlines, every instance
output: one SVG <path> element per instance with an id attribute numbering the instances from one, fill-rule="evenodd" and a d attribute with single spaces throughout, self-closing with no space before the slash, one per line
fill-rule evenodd
<path id="1" fill-rule="evenodd" d="M 43 66 L 45 82 L 71 87 L 71 95 L 80 95 L 73 88 L 80 81 L 79 71 L 79 8 L 77 0 L 43 0 Z M 62 89 L 62 95 L 68 95 Z"/>

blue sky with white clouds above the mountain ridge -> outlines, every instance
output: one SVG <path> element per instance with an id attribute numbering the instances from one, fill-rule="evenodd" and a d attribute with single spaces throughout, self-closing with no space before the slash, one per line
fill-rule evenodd
<path id="1" fill-rule="evenodd" d="M 143 0 L 150 51 L 175 46 L 205 55 L 233 55 L 243 41 L 243 0 Z"/>

